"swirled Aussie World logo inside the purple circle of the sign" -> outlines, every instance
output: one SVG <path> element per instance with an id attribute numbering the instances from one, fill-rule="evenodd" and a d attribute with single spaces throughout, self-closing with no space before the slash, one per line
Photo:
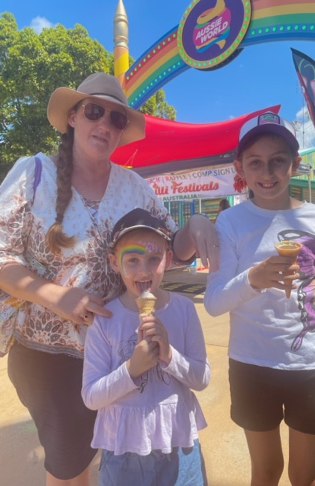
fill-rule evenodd
<path id="1" fill-rule="evenodd" d="M 197 18 L 193 32 L 196 50 L 201 52 L 217 44 L 223 49 L 230 34 L 231 11 L 224 0 L 217 0 L 216 6 L 202 12 Z"/>

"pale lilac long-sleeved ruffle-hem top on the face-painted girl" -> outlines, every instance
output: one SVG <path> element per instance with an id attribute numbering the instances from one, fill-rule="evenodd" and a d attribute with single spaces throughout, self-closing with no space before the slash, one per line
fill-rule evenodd
<path id="1" fill-rule="evenodd" d="M 125 363 L 137 342 L 139 314 L 119 299 L 106 308 L 113 317 L 96 317 L 85 341 L 82 396 L 88 408 L 98 410 L 92 447 L 116 455 L 191 447 L 198 430 L 207 425 L 191 389 L 203 390 L 210 380 L 193 303 L 171 294 L 166 306 L 156 311 L 168 332 L 172 359 L 168 366 L 159 362 L 135 381 Z"/>

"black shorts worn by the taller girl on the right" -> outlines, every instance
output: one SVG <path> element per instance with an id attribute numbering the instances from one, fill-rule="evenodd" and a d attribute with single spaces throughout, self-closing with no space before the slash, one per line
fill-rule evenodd
<path id="1" fill-rule="evenodd" d="M 231 418 L 243 429 L 265 432 L 282 418 L 315 434 L 315 369 L 282 370 L 229 360 Z"/>

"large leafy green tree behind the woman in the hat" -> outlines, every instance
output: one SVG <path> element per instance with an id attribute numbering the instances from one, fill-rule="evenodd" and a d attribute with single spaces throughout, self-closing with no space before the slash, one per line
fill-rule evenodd
<path id="1" fill-rule="evenodd" d="M 0 180 L 19 156 L 56 149 L 59 133 L 46 115 L 51 93 L 76 88 L 97 71 L 113 73 L 113 54 L 82 25 L 58 24 L 36 34 L 30 27 L 18 30 L 11 13 L 0 14 Z M 163 90 L 141 111 L 175 119 Z"/>

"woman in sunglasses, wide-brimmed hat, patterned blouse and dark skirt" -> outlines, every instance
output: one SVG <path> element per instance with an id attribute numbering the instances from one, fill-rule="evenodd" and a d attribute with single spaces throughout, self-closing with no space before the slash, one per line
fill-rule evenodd
<path id="1" fill-rule="evenodd" d="M 214 268 L 217 242 L 198 215 L 176 232 L 146 182 L 110 161 L 117 146 L 145 136 L 115 77 L 57 88 L 48 119 L 62 133 L 58 155 L 19 159 L 0 187 L 0 289 L 22 301 L 8 372 L 44 447 L 46 485 L 87 486 L 95 413 L 81 399 L 83 346 L 86 325 L 110 316 L 103 306 L 122 290 L 108 262 L 113 226 L 145 208 L 165 219 L 178 260 L 211 257 Z"/>

